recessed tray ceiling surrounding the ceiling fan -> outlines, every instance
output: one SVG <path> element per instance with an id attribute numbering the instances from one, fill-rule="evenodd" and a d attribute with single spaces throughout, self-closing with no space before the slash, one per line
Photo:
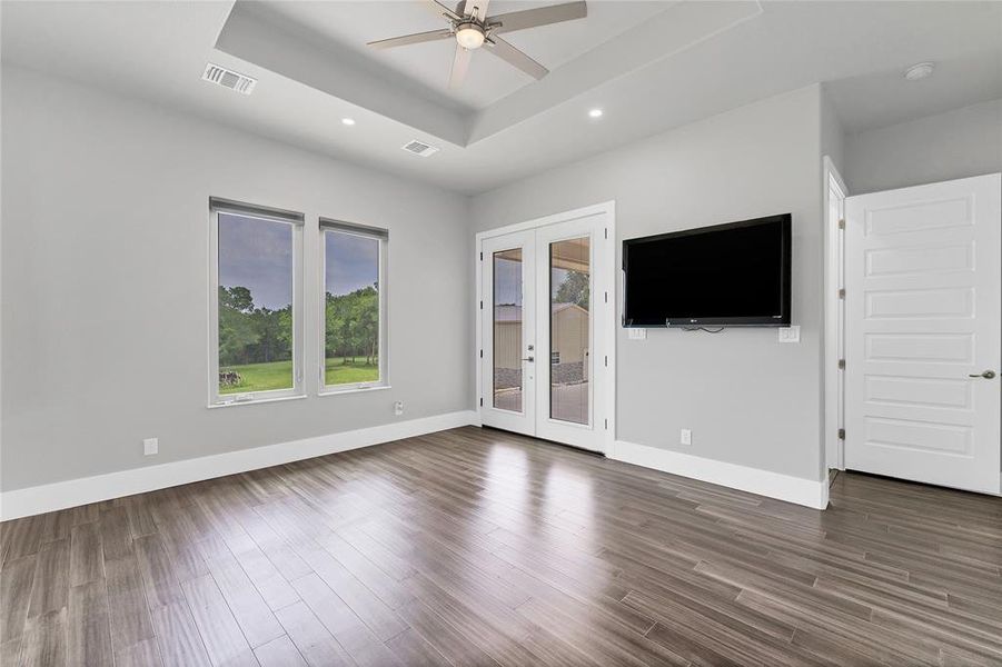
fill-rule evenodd
<path id="1" fill-rule="evenodd" d="M 490 3 L 488 13 L 554 3 L 502 0 Z M 505 34 L 550 69 L 542 80 L 488 53 L 474 53 L 458 90 L 446 84 L 452 41 L 384 51 L 365 46 L 445 27 L 420 2 L 236 2 L 216 48 L 444 141 L 469 146 L 761 12 L 754 0 L 593 0 L 587 18 Z"/>

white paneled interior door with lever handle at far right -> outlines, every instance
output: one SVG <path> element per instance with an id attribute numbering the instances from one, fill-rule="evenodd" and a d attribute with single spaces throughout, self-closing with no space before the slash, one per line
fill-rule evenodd
<path id="1" fill-rule="evenodd" d="M 846 199 L 845 467 L 1000 492 L 1002 175 Z"/>

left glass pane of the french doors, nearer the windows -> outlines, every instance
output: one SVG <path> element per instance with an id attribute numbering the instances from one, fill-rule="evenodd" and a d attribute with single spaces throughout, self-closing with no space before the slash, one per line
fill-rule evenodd
<path id="1" fill-rule="evenodd" d="M 494 407 L 522 412 L 522 248 L 495 252 Z"/>

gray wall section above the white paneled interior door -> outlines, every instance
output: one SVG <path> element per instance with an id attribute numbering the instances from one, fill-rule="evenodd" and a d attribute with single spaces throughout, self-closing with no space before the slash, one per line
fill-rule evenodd
<path id="1" fill-rule="evenodd" d="M 1002 100 L 851 135 L 851 195 L 1002 171 Z"/>

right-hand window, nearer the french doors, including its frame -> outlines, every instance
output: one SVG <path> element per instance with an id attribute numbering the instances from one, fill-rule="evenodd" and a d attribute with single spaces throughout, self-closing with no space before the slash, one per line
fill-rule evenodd
<path id="1" fill-rule="evenodd" d="M 327 391 L 386 386 L 388 232 L 320 220 L 321 384 Z"/>

